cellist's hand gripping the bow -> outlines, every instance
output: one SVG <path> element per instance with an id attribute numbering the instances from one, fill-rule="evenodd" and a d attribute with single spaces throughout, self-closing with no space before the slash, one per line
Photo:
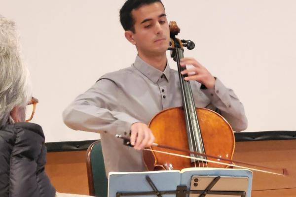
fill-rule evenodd
<path id="1" fill-rule="evenodd" d="M 144 123 L 137 122 L 131 126 L 131 144 L 136 150 L 142 150 L 151 146 L 154 142 L 154 135 L 148 126 Z"/>

